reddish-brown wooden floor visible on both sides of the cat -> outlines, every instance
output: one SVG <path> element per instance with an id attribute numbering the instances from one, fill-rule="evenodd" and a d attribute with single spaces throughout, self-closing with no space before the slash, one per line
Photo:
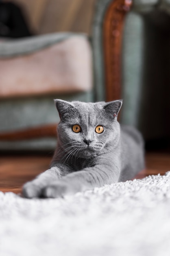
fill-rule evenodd
<path id="1" fill-rule="evenodd" d="M 52 157 L 49 156 L 1 156 L 0 191 L 20 193 L 22 185 L 37 174 L 48 169 Z M 170 153 L 147 153 L 146 170 L 137 175 L 163 175 L 170 171 Z"/>

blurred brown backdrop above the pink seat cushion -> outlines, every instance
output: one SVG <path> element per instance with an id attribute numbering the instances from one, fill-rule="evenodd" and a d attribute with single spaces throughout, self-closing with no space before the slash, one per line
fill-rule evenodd
<path id="1" fill-rule="evenodd" d="M 0 2 L 5 4 L 10 2 L 15 4 L 13 8 L 20 8 L 32 35 L 61 31 L 91 33 L 96 0 L 1 0 Z M 1 14 L 1 21 L 2 16 Z"/>

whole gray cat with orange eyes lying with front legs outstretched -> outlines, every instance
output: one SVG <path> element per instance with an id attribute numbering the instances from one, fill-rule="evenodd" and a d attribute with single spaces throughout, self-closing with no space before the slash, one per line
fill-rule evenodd
<path id="1" fill-rule="evenodd" d="M 61 121 L 50 169 L 23 186 L 26 198 L 57 198 L 126 181 L 144 168 L 142 136 L 117 121 L 122 100 L 55 100 Z"/>

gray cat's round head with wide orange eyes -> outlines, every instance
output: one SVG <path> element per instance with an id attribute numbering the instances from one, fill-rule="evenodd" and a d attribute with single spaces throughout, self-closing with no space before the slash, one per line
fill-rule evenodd
<path id="1" fill-rule="evenodd" d="M 101 155 L 118 143 L 117 121 L 122 100 L 85 103 L 55 100 L 60 115 L 58 140 L 72 155 L 90 158 Z"/>

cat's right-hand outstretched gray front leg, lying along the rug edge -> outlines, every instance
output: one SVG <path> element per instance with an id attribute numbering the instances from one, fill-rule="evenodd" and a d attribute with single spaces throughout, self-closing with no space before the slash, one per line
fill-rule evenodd
<path id="1" fill-rule="evenodd" d="M 118 166 L 115 166 L 115 168 L 107 165 L 89 167 L 51 182 L 44 189 L 43 195 L 46 198 L 64 197 L 65 195 L 118 182 L 119 176 L 120 169 Z"/>

